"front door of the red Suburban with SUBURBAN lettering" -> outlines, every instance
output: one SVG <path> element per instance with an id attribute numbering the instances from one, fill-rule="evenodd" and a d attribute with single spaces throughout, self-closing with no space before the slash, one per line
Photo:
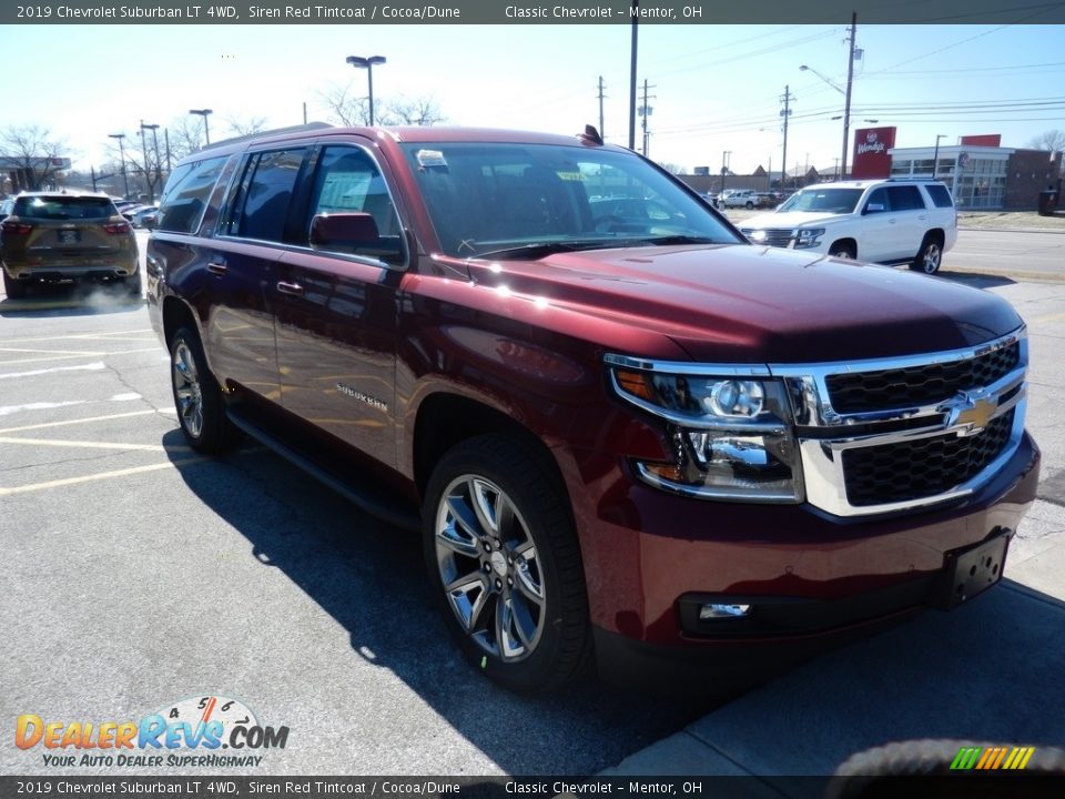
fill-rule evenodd
<path id="1" fill-rule="evenodd" d="M 396 331 L 406 254 L 384 169 L 368 143 L 321 149 L 300 246 L 278 263 L 274 286 L 284 407 L 395 466 Z M 312 244 L 314 216 L 342 213 L 369 214 L 377 239 Z"/>

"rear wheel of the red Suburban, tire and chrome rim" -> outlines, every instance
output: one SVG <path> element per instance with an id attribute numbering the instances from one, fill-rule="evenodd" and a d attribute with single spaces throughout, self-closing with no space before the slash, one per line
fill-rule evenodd
<path id="1" fill-rule="evenodd" d="M 214 454 L 240 442 L 241 432 L 225 415 L 222 388 L 207 367 L 200 336 L 189 327 L 179 328 L 170 340 L 170 383 L 190 446 Z"/>

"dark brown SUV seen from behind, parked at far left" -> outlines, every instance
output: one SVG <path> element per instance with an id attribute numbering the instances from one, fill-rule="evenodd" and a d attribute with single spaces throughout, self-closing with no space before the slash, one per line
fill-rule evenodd
<path id="1" fill-rule="evenodd" d="M 111 198 L 81 192 L 26 192 L 0 223 L 3 287 L 9 297 L 34 282 L 122 284 L 140 296 L 136 240 Z"/>

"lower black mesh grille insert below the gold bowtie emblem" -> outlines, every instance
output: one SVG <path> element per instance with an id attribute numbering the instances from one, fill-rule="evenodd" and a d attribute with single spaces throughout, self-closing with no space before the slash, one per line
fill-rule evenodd
<path id="1" fill-rule="evenodd" d="M 1014 412 L 971 436 L 954 433 L 848 449 L 843 453 L 846 498 L 864 507 L 914 502 L 944 494 L 975 477 L 1010 442 Z"/>

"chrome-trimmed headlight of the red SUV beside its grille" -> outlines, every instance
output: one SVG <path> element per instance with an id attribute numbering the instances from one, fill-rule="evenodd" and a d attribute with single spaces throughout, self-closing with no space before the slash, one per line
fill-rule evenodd
<path id="1" fill-rule="evenodd" d="M 714 499 L 802 500 L 791 406 L 764 367 L 606 362 L 617 394 L 666 424 L 671 458 L 637 461 L 645 481 Z"/>

